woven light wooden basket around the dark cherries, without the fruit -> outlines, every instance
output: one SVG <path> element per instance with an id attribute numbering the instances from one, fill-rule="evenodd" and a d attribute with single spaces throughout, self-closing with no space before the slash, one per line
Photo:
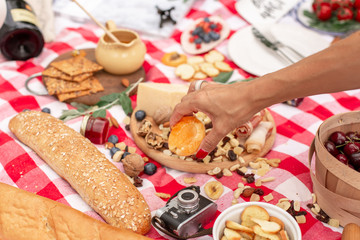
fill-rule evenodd
<path id="1" fill-rule="evenodd" d="M 315 152 L 315 175 L 310 171 L 317 202 L 331 218 L 360 224 L 360 172 L 333 157 L 324 142 L 334 131 L 360 130 L 360 111 L 334 115 L 319 127 L 309 150 L 309 165 Z"/>

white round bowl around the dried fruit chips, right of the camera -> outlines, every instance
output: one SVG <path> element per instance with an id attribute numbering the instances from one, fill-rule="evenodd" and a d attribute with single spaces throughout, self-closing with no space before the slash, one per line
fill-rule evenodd
<path id="1" fill-rule="evenodd" d="M 238 203 L 229 208 L 227 208 L 224 212 L 222 212 L 215 220 L 213 226 L 213 238 L 214 240 L 220 240 L 224 228 L 225 228 L 225 221 L 231 220 L 234 222 L 240 223 L 240 215 L 242 211 L 251 205 L 257 205 L 266 209 L 270 216 L 274 216 L 279 218 L 285 224 L 285 230 L 289 235 L 290 240 L 301 240 L 301 230 L 299 224 L 295 221 L 295 219 L 285 210 L 279 208 L 270 203 L 264 202 L 245 202 L 245 203 Z"/>

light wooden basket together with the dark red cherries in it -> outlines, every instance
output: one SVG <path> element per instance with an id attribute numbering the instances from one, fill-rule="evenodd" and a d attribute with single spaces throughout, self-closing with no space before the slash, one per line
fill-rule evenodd
<path id="1" fill-rule="evenodd" d="M 313 153 L 311 178 L 320 207 L 342 226 L 360 224 L 360 111 L 326 119 L 310 147 L 310 163 Z"/>

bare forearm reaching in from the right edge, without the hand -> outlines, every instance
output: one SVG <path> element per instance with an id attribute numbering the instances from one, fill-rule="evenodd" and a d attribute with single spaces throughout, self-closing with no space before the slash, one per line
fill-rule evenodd
<path id="1" fill-rule="evenodd" d="M 360 88 L 360 31 L 250 84 L 259 109 L 296 97 Z"/>

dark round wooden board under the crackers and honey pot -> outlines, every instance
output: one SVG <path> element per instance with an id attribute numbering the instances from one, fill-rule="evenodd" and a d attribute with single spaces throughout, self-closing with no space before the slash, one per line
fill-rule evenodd
<path id="1" fill-rule="evenodd" d="M 81 49 L 81 50 L 84 50 L 86 52 L 85 57 L 87 59 L 96 62 L 94 48 Z M 61 54 L 60 56 L 55 58 L 52 62 L 71 58 L 72 57 L 71 53 L 72 53 L 72 51 Z M 51 63 L 49 63 L 48 67 L 50 66 L 50 64 Z M 98 93 L 93 93 L 93 94 L 87 95 L 87 96 L 72 98 L 72 99 L 66 100 L 65 102 L 67 102 L 67 103 L 78 102 L 78 103 L 84 103 L 86 105 L 94 105 L 100 100 L 100 98 L 102 96 L 105 96 L 105 95 L 108 95 L 111 93 L 119 93 L 119 92 L 124 91 L 126 88 L 121 84 L 121 79 L 123 79 L 123 78 L 127 78 L 129 80 L 130 84 L 137 82 L 141 77 L 143 78 L 143 81 L 146 80 L 145 79 L 146 78 L 145 70 L 143 67 L 139 68 L 139 70 L 137 70 L 136 72 L 133 72 L 131 74 L 126 74 L 126 75 L 113 75 L 111 73 L 106 72 L 105 70 L 101 70 L 101 71 L 95 73 L 94 76 L 99 79 L 100 83 L 104 87 L 104 91 L 98 92 Z M 136 91 L 137 91 L 137 89 L 135 88 L 130 93 L 130 96 L 135 94 Z"/>

